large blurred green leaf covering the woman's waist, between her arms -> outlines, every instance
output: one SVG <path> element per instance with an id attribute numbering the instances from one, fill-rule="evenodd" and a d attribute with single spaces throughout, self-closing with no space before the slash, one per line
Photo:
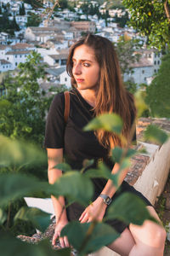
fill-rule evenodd
<path id="1" fill-rule="evenodd" d="M 80 172 L 66 172 L 50 186 L 52 195 L 64 195 L 69 202 L 77 201 L 87 206 L 94 193 L 93 183 Z"/>

